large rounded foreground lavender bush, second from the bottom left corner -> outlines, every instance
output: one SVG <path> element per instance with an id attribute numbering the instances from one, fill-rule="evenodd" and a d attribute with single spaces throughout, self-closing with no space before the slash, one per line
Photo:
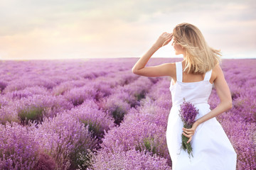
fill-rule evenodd
<path id="1" fill-rule="evenodd" d="M 58 114 L 55 118 L 44 119 L 34 132 L 40 147 L 53 157 L 57 169 L 76 169 L 84 164 L 80 154 L 87 154 L 97 145 L 88 130 L 73 115 Z"/>

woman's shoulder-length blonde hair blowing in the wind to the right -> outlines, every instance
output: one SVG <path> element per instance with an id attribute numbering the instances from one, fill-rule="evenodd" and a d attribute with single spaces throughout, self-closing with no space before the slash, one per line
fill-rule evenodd
<path id="1" fill-rule="evenodd" d="M 209 47 L 201 31 L 190 23 L 180 23 L 173 31 L 176 44 L 185 49 L 186 61 L 184 72 L 204 74 L 219 64 L 220 50 Z"/>

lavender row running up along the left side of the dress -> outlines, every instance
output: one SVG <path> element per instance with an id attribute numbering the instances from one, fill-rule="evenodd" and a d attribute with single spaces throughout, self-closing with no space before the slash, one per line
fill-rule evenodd
<path id="1" fill-rule="evenodd" d="M 90 169 L 171 169 L 165 135 L 171 96 L 166 80 L 151 86 L 140 106 L 107 132 Z"/>

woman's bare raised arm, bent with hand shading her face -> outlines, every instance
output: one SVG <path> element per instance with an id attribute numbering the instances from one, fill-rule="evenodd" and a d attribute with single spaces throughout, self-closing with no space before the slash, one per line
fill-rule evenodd
<path id="1" fill-rule="evenodd" d="M 149 61 L 150 57 L 154 55 L 154 52 L 159 50 L 160 47 L 167 45 L 171 38 L 172 33 L 162 33 L 158 40 L 151 46 L 151 48 L 134 64 L 132 67 L 132 72 L 134 74 L 145 76 L 145 77 L 161 77 L 161 76 L 171 76 L 174 74 L 174 64 L 165 63 L 152 67 L 145 67 L 146 63 Z"/>

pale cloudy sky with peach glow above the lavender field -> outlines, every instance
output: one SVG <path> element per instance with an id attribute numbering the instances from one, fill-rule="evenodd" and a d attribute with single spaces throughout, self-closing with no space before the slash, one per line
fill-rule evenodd
<path id="1" fill-rule="evenodd" d="M 191 23 L 223 58 L 256 58 L 256 1 L 1 0 L 0 60 L 142 57 Z M 182 57 L 171 42 L 152 57 Z"/>

